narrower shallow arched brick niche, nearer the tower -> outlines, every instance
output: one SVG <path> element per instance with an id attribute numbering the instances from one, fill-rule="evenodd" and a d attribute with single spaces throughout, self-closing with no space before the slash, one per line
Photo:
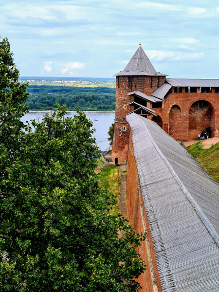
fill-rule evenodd
<path id="1" fill-rule="evenodd" d="M 169 111 L 169 135 L 172 136 L 175 140 L 180 140 L 180 125 L 181 121 L 181 110 L 177 105 L 172 106 Z"/>

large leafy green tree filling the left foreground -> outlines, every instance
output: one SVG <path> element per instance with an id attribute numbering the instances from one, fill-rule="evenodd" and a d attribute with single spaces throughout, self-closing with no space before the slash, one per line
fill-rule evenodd
<path id="1" fill-rule="evenodd" d="M 64 119 L 58 106 L 31 132 L 7 39 L 0 72 L 0 291 L 138 291 L 145 265 L 134 248 L 145 237 L 97 187 L 91 121 Z"/>

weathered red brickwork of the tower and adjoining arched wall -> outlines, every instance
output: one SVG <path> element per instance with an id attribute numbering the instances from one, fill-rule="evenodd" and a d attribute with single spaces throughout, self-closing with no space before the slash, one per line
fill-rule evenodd
<path id="1" fill-rule="evenodd" d="M 158 81 L 159 80 L 159 81 Z M 128 92 L 141 91 L 150 95 L 165 81 L 165 76 L 117 76 L 116 77 L 116 112 L 115 130 L 112 146 L 112 161 L 115 157 L 119 163 L 127 162 L 130 127 L 126 120 L 126 114 L 134 110 L 133 106 L 125 106 L 134 101 L 133 96 L 127 96 Z M 207 128 L 207 135 L 215 137 L 215 131 L 219 129 L 219 93 L 174 93 L 171 88 L 162 108 L 153 108 L 157 117 L 149 116 L 149 119 L 157 122 L 174 139 L 186 142 L 197 139 L 203 128 Z M 137 98 L 136 98 L 137 99 Z M 204 101 L 204 106 L 200 106 Z M 152 108 L 152 103 L 139 101 L 147 108 Z M 125 127 L 125 128 L 124 128 Z"/>

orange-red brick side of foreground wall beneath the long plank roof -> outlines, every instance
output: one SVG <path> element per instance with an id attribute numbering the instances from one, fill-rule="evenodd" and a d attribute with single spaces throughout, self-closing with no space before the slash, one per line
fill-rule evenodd
<path id="1" fill-rule="evenodd" d="M 143 201 L 142 194 L 140 195 Z M 150 271 L 150 264 L 152 261 L 152 266 L 153 266 L 154 274 L 156 278 L 156 285 L 158 289 L 155 291 L 162 292 L 160 278 L 159 278 L 158 269 L 157 269 L 155 252 L 154 252 L 153 243 L 152 243 L 152 237 L 149 230 L 149 222 L 146 217 L 144 203 L 143 203 L 143 210 L 144 210 L 144 217 L 146 221 L 147 237 L 149 241 L 151 258 L 149 257 L 148 259 L 146 241 L 144 241 L 142 243 L 142 246 L 136 248 L 136 251 L 141 255 L 141 257 L 145 261 L 146 271 L 144 274 L 140 275 L 137 281 L 139 281 L 139 283 L 142 286 L 142 290 L 141 290 L 142 292 L 154 291 L 153 285 L 152 285 L 151 271 Z M 142 214 L 141 214 L 141 208 L 140 208 L 138 170 L 135 163 L 131 133 L 130 133 L 130 143 L 129 143 L 129 150 L 128 150 L 128 164 L 127 164 L 127 213 L 128 213 L 128 220 L 133 225 L 136 233 L 144 232 Z"/>

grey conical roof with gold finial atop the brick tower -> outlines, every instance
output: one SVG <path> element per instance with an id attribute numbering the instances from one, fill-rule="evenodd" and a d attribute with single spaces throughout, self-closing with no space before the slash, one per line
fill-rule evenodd
<path id="1" fill-rule="evenodd" d="M 132 56 L 126 68 L 117 73 L 113 76 L 119 75 L 160 75 L 160 76 L 167 76 L 163 73 L 157 72 L 153 65 L 151 64 L 150 60 L 148 59 L 147 55 L 145 54 L 144 50 L 141 47 L 141 43 L 139 45 L 138 50 Z"/>

